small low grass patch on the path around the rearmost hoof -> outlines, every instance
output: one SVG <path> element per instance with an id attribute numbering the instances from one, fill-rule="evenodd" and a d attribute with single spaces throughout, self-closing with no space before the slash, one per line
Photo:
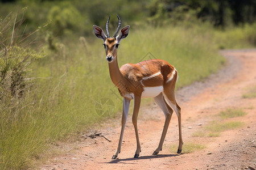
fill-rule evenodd
<path id="1" fill-rule="evenodd" d="M 195 151 L 199 151 L 204 149 L 205 146 L 201 145 L 199 143 L 195 143 L 195 142 L 184 142 L 184 145 L 182 147 L 182 153 L 183 154 L 189 154 Z M 170 150 L 172 153 L 176 153 L 177 152 L 177 145 L 171 145 L 170 146 Z"/>

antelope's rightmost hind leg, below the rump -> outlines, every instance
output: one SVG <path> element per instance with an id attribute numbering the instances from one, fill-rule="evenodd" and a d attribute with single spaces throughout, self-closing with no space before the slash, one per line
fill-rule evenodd
<path id="1" fill-rule="evenodd" d="M 179 105 L 176 103 L 175 100 L 175 95 L 174 92 L 164 92 L 164 99 L 166 100 L 166 103 L 175 111 L 178 117 L 178 122 L 179 122 L 179 147 L 177 149 L 177 154 L 180 154 L 182 151 L 182 145 L 183 145 L 183 140 L 182 140 L 182 134 L 181 134 L 181 108 Z"/>

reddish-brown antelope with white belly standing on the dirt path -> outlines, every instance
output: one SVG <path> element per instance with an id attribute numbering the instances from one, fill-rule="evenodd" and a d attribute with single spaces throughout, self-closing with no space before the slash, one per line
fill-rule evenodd
<path id="1" fill-rule="evenodd" d="M 109 19 L 106 22 L 106 35 L 104 31 L 97 25 L 93 25 L 95 35 L 104 41 L 106 51 L 106 61 L 109 64 L 109 73 L 112 82 L 117 86 L 120 95 L 123 97 L 122 111 L 122 128 L 119 137 L 117 150 L 114 152 L 112 159 L 117 158 L 121 151 L 123 132 L 125 130 L 126 120 L 128 116 L 130 101 L 134 99 L 134 110 L 132 122 L 135 129 L 137 149 L 134 158 L 139 157 L 141 145 L 139 143 L 139 133 L 137 126 L 137 118 L 141 99 L 145 97 L 153 97 L 155 103 L 162 109 L 165 122 L 160 138 L 160 142 L 153 155 L 157 155 L 162 151 L 164 138 L 166 137 L 167 129 L 170 124 L 172 113 L 175 111 L 179 122 L 179 147 L 177 154 L 181 153 L 183 140 L 181 137 L 181 109 L 175 100 L 175 84 L 178 79 L 177 70 L 174 66 L 162 59 L 150 59 L 139 63 L 127 63 L 120 69 L 117 62 L 117 49 L 120 41 L 128 36 L 130 25 L 121 28 L 121 19 L 118 18 L 118 27 L 113 37 L 109 36 Z"/>

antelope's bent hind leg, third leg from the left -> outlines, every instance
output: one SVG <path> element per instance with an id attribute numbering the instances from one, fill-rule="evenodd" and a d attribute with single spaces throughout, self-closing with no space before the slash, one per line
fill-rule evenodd
<path id="1" fill-rule="evenodd" d="M 164 128 L 162 132 L 162 136 L 158 145 L 158 148 L 154 151 L 153 155 L 157 155 L 160 150 L 162 150 L 164 138 L 166 138 L 166 133 L 168 130 L 168 126 L 170 124 L 171 116 L 172 116 L 172 109 L 168 106 L 166 101 L 164 100 L 163 94 L 159 94 L 154 98 L 155 103 L 159 105 L 159 107 L 162 109 L 164 116 L 166 116 L 166 121 L 164 122 Z"/>

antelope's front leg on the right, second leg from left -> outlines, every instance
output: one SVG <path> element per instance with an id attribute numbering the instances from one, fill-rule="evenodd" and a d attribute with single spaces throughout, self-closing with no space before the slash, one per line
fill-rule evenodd
<path id="1" fill-rule="evenodd" d="M 139 143 L 139 133 L 138 133 L 138 127 L 137 127 L 137 119 L 138 119 L 140 105 L 141 105 L 141 96 L 134 96 L 133 126 L 135 130 L 136 141 L 137 141 L 137 149 L 136 149 L 134 158 L 138 158 L 139 152 L 141 152 L 141 144 Z"/>

